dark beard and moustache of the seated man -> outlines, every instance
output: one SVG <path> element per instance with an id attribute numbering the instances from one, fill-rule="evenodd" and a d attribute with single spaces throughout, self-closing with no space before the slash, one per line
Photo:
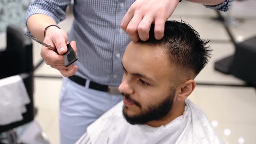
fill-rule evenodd
<path id="1" fill-rule="evenodd" d="M 141 105 L 137 101 L 132 100 L 129 95 L 125 95 L 124 93 L 122 93 L 122 95 L 124 95 L 127 100 L 132 101 L 136 106 L 138 106 L 138 108 L 141 109 Z M 142 111 L 139 115 L 128 116 L 125 113 L 125 109 L 128 107 L 123 105 L 123 116 L 129 124 L 133 125 L 146 124 L 149 121 L 160 120 L 171 111 L 173 107 L 174 96 L 175 89 L 171 88 L 167 98 L 155 105 L 148 105 L 147 109 Z"/>

